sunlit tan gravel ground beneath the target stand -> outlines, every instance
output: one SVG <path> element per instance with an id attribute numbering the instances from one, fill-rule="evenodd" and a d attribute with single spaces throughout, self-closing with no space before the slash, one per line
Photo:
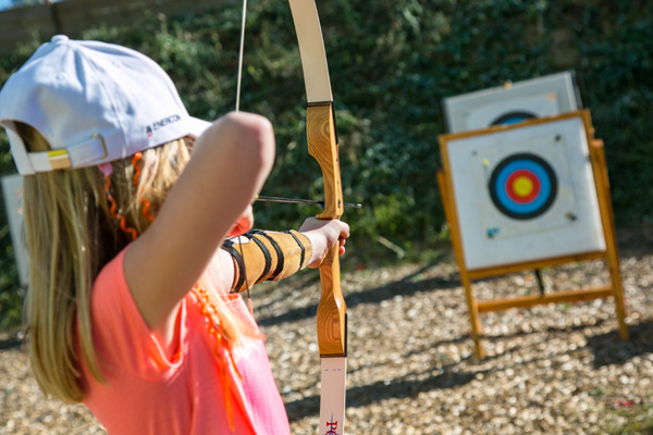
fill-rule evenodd
<path id="1" fill-rule="evenodd" d="M 653 228 L 619 232 L 630 341 L 611 299 L 482 314 L 473 357 L 451 256 L 343 274 L 349 312 L 349 434 L 606 434 L 653 399 Z M 347 260 L 344 260 L 347 261 Z M 319 409 L 316 273 L 252 291 L 294 434 Z M 601 261 L 543 272 L 547 288 L 605 283 Z M 478 283 L 477 297 L 538 291 L 532 273 Z M 653 419 L 653 417 L 652 417 Z M 0 434 L 102 434 L 81 406 L 44 397 L 16 336 L 0 339 Z M 652 433 L 652 432 L 645 432 Z"/>

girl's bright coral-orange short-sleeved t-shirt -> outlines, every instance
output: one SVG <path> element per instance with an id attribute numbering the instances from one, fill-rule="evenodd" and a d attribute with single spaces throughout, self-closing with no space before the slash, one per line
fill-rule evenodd
<path id="1" fill-rule="evenodd" d="M 248 339 L 233 352 L 242 380 L 213 353 L 197 300 L 188 293 L 175 324 L 178 349 L 172 359 L 150 332 L 127 287 L 123 250 L 98 275 L 91 315 L 96 351 L 108 384 L 83 366 L 84 403 L 109 434 L 289 434 L 263 343 Z M 239 295 L 229 303 L 254 324 Z M 236 390 L 234 394 L 233 391 Z M 239 391 L 239 394 L 238 394 Z M 231 402 L 231 403 L 230 403 Z M 227 407 L 232 408 L 233 427 Z"/>

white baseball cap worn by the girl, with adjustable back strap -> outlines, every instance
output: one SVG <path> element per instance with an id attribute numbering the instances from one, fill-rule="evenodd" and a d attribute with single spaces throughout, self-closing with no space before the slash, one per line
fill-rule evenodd
<path id="1" fill-rule="evenodd" d="M 14 122 L 34 127 L 52 150 L 27 152 Z M 148 57 L 58 35 L 4 84 L 0 125 L 19 173 L 29 175 L 122 159 L 197 137 L 211 124 L 188 115 L 168 74 Z"/>

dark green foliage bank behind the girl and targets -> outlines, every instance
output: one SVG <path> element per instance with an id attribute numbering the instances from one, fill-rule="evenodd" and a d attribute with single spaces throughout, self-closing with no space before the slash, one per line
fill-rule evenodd
<path id="1" fill-rule="evenodd" d="M 653 3 L 644 0 L 318 1 L 335 97 L 350 251 L 378 236 L 404 249 L 432 249 L 445 221 L 435 182 L 442 98 L 574 69 L 605 139 L 619 225 L 653 220 Z M 79 38 L 122 44 L 161 63 L 188 110 L 214 119 L 233 110 L 239 7 L 167 17 Z M 287 3 L 249 5 L 241 108 L 275 126 L 278 156 L 264 195 L 319 198 L 318 165 L 306 150 L 304 80 Z M 0 84 L 38 45 L 0 59 Z M 7 173 L 7 139 L 0 137 Z M 258 225 L 284 228 L 317 211 L 257 206 Z M 9 264 L 8 237 L 1 238 Z M 366 249 L 361 249 L 362 247 Z M 3 269 L 7 271 L 7 269 Z M 14 284 L 15 286 L 15 284 Z M 0 293 L 8 291 L 8 287 Z M 0 312 L 2 309 L 0 309 Z"/>

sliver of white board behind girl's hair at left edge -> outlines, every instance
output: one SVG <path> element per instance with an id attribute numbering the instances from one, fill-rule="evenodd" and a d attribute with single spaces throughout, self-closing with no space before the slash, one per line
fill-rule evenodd
<path id="1" fill-rule="evenodd" d="M 23 177 L 21 175 L 3 176 L 2 195 L 4 196 L 4 208 L 7 210 L 7 220 L 9 221 L 19 277 L 21 285 L 27 287 L 29 261 L 23 240 Z"/>

